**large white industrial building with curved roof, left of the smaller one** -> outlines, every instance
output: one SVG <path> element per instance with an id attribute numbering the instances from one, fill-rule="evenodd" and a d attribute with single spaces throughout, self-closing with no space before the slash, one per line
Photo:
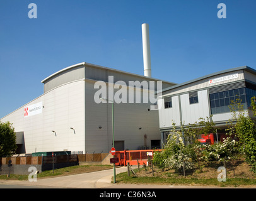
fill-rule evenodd
<path id="1" fill-rule="evenodd" d="M 137 81 L 139 85 L 129 86 L 131 81 Z M 160 80 L 78 63 L 42 80 L 44 94 L 0 120 L 13 123 L 17 144 L 20 144 L 19 153 L 65 150 L 105 153 L 112 148 L 112 104 L 103 100 L 97 103 L 95 97 L 106 95 L 103 98 L 115 98 L 115 148 L 159 148 L 158 111 L 154 110 L 152 102 L 143 103 L 144 96 L 154 95 L 157 89 L 157 86 L 151 86 L 152 90 L 144 90 L 150 81 L 157 84 Z M 106 93 L 100 91 L 104 84 Z M 163 88 L 172 85 L 162 82 Z M 127 92 L 127 103 L 117 103 L 120 91 Z M 129 96 L 131 91 L 134 97 Z M 137 92 L 141 94 L 139 100 L 136 99 Z"/>

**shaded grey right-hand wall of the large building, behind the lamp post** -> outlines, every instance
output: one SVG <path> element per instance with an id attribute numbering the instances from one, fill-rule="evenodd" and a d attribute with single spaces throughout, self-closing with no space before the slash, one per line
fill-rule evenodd
<path id="1" fill-rule="evenodd" d="M 85 82 L 86 151 L 88 153 L 109 151 L 112 147 L 112 104 L 96 104 L 94 95 L 98 89 L 94 89 L 93 81 Z M 119 89 L 114 89 L 114 93 L 117 90 Z M 107 93 L 107 98 L 111 100 L 108 95 Z M 142 96 L 141 100 L 143 100 Z M 144 146 L 144 134 L 147 134 L 149 147 L 151 139 L 161 139 L 158 111 L 148 111 L 150 105 L 150 103 L 114 103 L 115 141 L 124 141 L 125 149 Z"/>

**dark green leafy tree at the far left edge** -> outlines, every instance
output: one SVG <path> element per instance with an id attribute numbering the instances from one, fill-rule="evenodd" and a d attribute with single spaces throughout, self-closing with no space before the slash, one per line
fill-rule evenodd
<path id="1" fill-rule="evenodd" d="M 16 149 L 15 129 L 9 121 L 0 121 L 0 156 L 13 155 Z"/>

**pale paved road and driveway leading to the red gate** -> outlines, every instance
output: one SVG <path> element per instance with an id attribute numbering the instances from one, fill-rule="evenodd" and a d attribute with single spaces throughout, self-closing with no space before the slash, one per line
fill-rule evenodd
<path id="1" fill-rule="evenodd" d="M 116 168 L 117 174 L 124 171 L 127 171 L 127 167 Z M 78 175 L 38 179 L 37 182 L 0 180 L 0 188 L 218 188 L 193 185 L 118 184 L 111 183 L 112 177 L 113 169 L 110 169 Z"/>

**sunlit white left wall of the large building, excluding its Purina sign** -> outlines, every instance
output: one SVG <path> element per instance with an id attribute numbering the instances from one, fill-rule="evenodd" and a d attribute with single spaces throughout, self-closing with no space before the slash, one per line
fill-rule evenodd
<path id="1" fill-rule="evenodd" d="M 42 103 L 42 113 L 24 117 L 24 108 Z M 20 107 L 1 121 L 23 131 L 26 153 L 84 149 L 84 81 L 62 85 Z M 75 128 L 74 131 L 70 128 Z M 52 131 L 55 131 L 53 133 Z"/>

